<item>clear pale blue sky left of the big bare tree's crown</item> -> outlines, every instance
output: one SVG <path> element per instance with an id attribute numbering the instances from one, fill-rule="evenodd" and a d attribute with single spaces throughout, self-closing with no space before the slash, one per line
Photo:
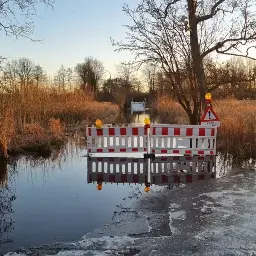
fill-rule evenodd
<path id="1" fill-rule="evenodd" d="M 16 59 L 27 57 L 40 64 L 47 74 L 54 74 L 63 64 L 74 68 L 85 57 L 103 62 L 112 75 L 117 64 L 129 61 L 129 52 L 114 52 L 110 37 L 125 38 L 123 25 L 129 18 L 122 12 L 124 3 L 135 0 L 55 0 L 54 8 L 37 7 L 34 18 L 34 39 L 6 37 L 1 32 L 0 56 Z"/>

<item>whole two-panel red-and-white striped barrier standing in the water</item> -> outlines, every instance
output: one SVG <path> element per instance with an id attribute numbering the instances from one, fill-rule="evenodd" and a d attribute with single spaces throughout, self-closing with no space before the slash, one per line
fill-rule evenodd
<path id="1" fill-rule="evenodd" d="M 89 153 L 216 155 L 217 128 L 200 125 L 88 127 Z"/>

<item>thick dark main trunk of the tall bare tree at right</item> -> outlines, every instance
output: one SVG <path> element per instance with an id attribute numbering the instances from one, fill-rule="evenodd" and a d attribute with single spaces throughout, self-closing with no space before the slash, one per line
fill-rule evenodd
<path id="1" fill-rule="evenodd" d="M 193 66 L 195 70 L 197 85 L 200 91 L 200 102 L 201 106 L 204 107 L 205 104 L 205 76 L 204 76 L 204 66 L 203 59 L 201 57 L 200 46 L 198 42 L 198 31 L 197 31 L 197 17 L 196 17 L 196 2 L 195 0 L 188 1 L 189 10 L 189 28 L 190 28 L 190 45 L 191 45 L 191 55 Z"/>

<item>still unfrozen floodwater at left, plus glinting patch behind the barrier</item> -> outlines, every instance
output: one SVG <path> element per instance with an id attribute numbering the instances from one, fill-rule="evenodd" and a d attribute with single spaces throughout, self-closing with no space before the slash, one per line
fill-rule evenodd
<path id="1" fill-rule="evenodd" d="M 143 122 L 148 115 L 127 115 Z M 69 142 L 50 159 L 20 158 L 0 164 L 0 254 L 20 247 L 80 239 L 112 221 L 140 185 L 87 183 L 85 144 Z M 124 200 L 125 199 L 125 200 Z"/>

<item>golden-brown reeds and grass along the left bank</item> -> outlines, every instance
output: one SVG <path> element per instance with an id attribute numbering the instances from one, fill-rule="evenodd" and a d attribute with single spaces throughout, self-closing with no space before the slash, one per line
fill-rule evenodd
<path id="1" fill-rule="evenodd" d="M 39 152 L 49 154 L 69 132 L 84 130 L 100 118 L 112 121 L 119 109 L 111 103 L 92 100 L 82 91 L 58 92 L 30 87 L 0 94 L 0 157 Z"/>

